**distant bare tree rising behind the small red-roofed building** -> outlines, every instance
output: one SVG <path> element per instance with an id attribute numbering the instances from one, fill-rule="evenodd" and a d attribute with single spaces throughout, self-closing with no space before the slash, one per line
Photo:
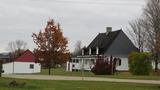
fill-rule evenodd
<path id="1" fill-rule="evenodd" d="M 7 49 L 11 52 L 10 58 L 14 60 L 26 50 L 27 43 L 23 40 L 15 40 L 8 43 Z"/>

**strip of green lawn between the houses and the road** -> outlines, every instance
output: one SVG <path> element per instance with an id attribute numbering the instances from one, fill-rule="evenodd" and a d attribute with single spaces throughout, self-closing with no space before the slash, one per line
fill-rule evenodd
<path id="1" fill-rule="evenodd" d="M 82 72 L 66 72 L 65 69 L 58 68 L 52 69 L 52 75 L 63 75 L 63 76 L 82 76 Z M 47 75 L 48 69 L 42 69 L 41 75 Z M 115 75 L 94 75 L 92 72 L 85 71 L 84 76 L 86 77 L 106 77 L 106 78 L 119 78 L 119 79 L 140 79 L 140 80 L 160 80 L 160 76 L 152 74 L 150 76 L 135 76 L 129 72 L 117 72 Z"/>

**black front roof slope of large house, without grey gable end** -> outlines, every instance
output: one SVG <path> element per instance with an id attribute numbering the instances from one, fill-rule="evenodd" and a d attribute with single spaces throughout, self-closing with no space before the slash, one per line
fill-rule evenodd
<path id="1" fill-rule="evenodd" d="M 118 36 L 118 34 L 121 32 L 122 30 L 117 30 L 117 31 L 112 31 L 109 32 L 108 34 L 106 33 L 99 33 L 97 35 L 97 37 L 89 44 L 89 46 L 87 48 L 100 48 L 100 49 L 107 49 L 112 42 L 114 41 L 114 39 Z"/>

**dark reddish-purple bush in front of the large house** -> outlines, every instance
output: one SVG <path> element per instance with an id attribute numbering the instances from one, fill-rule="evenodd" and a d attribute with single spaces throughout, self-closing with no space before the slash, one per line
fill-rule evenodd
<path id="1" fill-rule="evenodd" d="M 108 60 L 97 59 L 96 64 L 91 71 L 95 75 L 112 75 L 115 72 L 115 60 L 112 60 L 111 64 Z"/>

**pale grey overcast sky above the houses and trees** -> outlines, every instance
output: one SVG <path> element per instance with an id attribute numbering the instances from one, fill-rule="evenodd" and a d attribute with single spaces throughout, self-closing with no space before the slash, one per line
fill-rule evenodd
<path id="1" fill-rule="evenodd" d="M 49 18 L 61 24 L 73 51 L 77 40 L 87 46 L 107 26 L 126 31 L 144 5 L 145 0 L 0 0 L 0 52 L 17 39 L 32 50 L 32 33 L 43 30 Z"/>

